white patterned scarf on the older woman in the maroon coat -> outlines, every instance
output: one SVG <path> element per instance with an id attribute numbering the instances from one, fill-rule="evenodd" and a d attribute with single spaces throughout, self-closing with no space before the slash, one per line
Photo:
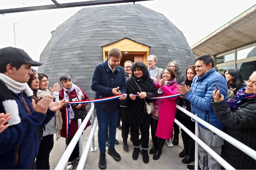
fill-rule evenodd
<path id="1" fill-rule="evenodd" d="M 77 85 L 75 85 L 74 83 L 72 83 L 72 87 L 70 89 L 67 89 L 65 87 L 63 87 L 64 91 L 65 92 L 68 92 L 70 93 L 71 91 L 73 91 L 74 89 L 76 90 L 76 93 L 77 93 L 77 97 L 78 97 L 78 100 L 81 101 L 82 100 L 82 91 L 80 90 L 79 87 L 77 87 Z M 68 94 L 67 93 L 64 93 L 64 98 L 65 98 L 65 101 L 69 101 L 69 97 L 68 97 Z M 72 107 L 70 106 L 68 108 L 68 111 L 69 111 L 69 124 L 71 123 L 71 119 L 74 119 L 74 111 L 72 109 Z"/>

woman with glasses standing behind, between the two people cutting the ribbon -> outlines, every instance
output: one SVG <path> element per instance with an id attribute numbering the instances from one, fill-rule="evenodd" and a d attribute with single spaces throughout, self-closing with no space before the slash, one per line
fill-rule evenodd
<path id="1" fill-rule="evenodd" d="M 133 63 L 131 61 L 124 62 L 124 71 L 125 71 L 124 75 L 125 75 L 126 81 L 132 75 L 132 64 Z M 129 148 L 127 145 L 127 139 L 128 139 L 130 126 L 129 126 L 129 120 L 128 120 L 128 114 L 127 114 L 126 100 L 121 100 L 119 113 L 120 113 L 121 119 L 122 119 L 123 150 L 125 152 L 129 152 Z"/>

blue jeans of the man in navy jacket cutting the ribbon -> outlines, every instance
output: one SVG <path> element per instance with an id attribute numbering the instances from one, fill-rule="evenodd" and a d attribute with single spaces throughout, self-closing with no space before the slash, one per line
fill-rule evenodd
<path id="1" fill-rule="evenodd" d="M 96 110 L 98 119 L 98 143 L 100 153 L 106 152 L 106 130 L 109 125 L 109 149 L 115 147 L 115 134 L 116 134 L 116 124 L 118 120 L 119 110 L 114 112 L 103 112 Z"/>

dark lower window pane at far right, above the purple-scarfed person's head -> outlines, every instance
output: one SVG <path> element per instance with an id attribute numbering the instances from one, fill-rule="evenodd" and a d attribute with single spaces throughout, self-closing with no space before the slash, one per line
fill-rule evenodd
<path id="1" fill-rule="evenodd" d="M 248 81 L 252 72 L 256 70 L 256 61 L 239 63 L 237 64 L 237 69 L 241 73 L 243 80 Z"/>

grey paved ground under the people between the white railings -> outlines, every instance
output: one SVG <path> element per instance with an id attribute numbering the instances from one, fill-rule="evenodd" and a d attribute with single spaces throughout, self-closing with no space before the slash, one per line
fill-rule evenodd
<path id="1" fill-rule="evenodd" d="M 89 136 L 91 130 L 91 126 L 88 127 L 83 133 L 83 149 L 86 144 L 87 138 Z M 95 146 L 98 146 L 98 138 L 97 138 L 98 127 L 95 131 Z M 122 147 L 122 137 L 121 130 L 116 129 L 116 139 L 120 142 L 119 145 L 115 146 L 116 151 L 121 155 L 121 161 L 116 162 L 113 158 L 106 153 L 106 161 L 107 168 L 106 169 L 186 169 L 186 164 L 181 162 L 182 158 L 179 158 L 178 154 L 182 151 L 182 148 L 178 146 L 168 147 L 167 144 L 163 147 L 163 152 L 159 160 L 153 160 L 153 155 L 149 154 L 150 161 L 148 164 L 143 163 L 141 152 L 139 154 L 138 160 L 132 159 L 132 142 L 128 141 L 129 152 L 124 152 Z M 92 146 L 91 146 L 92 147 Z M 152 147 L 152 140 L 150 136 L 149 148 Z M 56 141 L 54 148 L 50 154 L 50 169 L 54 169 L 65 151 L 65 139 L 61 138 Z M 97 147 L 97 151 L 91 152 L 89 151 L 86 163 L 84 165 L 84 169 L 99 169 L 99 148 Z M 194 162 L 193 162 L 194 163 Z M 76 169 L 77 164 L 74 163 L 73 169 Z"/>

